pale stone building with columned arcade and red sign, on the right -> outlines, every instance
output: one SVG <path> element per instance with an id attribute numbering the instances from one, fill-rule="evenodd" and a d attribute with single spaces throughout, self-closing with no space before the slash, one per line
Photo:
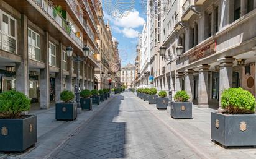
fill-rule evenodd
<path id="1" fill-rule="evenodd" d="M 171 87 L 173 95 L 186 90 L 200 108 L 219 108 L 223 90 L 230 87 L 255 95 L 255 0 L 163 0 L 161 4 L 160 43 L 173 62 L 159 60 L 157 70 L 165 71 L 160 77 L 154 75 L 158 90 Z M 177 46 L 183 46 L 181 56 Z"/>

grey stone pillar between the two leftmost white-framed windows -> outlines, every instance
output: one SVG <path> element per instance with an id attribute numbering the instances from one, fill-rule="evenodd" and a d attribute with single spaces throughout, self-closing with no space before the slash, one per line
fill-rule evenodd
<path id="1" fill-rule="evenodd" d="M 16 90 L 29 95 L 29 64 L 28 64 L 28 45 L 27 45 L 27 16 L 21 15 L 21 62 L 16 63 Z"/>

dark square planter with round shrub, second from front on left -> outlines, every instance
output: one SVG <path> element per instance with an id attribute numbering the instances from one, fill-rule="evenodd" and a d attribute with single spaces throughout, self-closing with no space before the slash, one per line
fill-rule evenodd
<path id="1" fill-rule="evenodd" d="M 63 103 L 56 103 L 55 118 L 57 120 L 73 121 L 77 117 L 77 105 L 72 100 L 75 97 L 70 90 L 65 90 L 60 93 L 60 100 Z"/>

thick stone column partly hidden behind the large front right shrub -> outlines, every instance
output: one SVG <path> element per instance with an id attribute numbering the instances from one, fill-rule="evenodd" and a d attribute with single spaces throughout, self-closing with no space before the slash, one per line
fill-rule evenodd
<path id="1" fill-rule="evenodd" d="M 222 92 L 232 87 L 232 77 L 233 77 L 233 62 L 235 58 L 232 57 L 225 57 L 218 59 L 217 61 L 220 62 L 220 69 L 219 69 L 219 111 L 222 111 L 221 108 L 221 95 Z"/>

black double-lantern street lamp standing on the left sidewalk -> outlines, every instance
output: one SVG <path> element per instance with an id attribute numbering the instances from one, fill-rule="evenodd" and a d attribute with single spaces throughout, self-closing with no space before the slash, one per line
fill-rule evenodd
<path id="1" fill-rule="evenodd" d="M 80 90 L 79 90 L 79 77 L 80 77 L 80 62 L 84 61 L 89 56 L 89 48 L 85 45 L 83 47 L 83 57 L 80 57 L 76 54 L 75 58 L 73 57 L 73 48 L 72 46 L 68 46 L 66 48 L 66 55 L 70 57 L 71 60 L 77 63 L 77 74 L 76 74 L 76 85 L 75 85 L 75 93 L 76 93 L 76 104 L 78 110 L 81 110 L 80 106 Z"/>

